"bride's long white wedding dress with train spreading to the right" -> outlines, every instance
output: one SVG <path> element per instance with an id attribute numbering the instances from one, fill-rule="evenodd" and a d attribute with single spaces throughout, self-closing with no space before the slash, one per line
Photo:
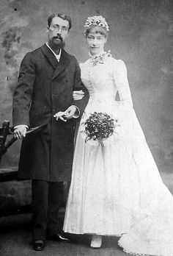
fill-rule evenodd
<path id="1" fill-rule="evenodd" d="M 130 254 L 172 256 L 173 196 L 133 110 L 125 64 L 109 54 L 96 63 L 89 58 L 81 79 L 89 102 L 76 137 L 65 232 L 120 236 Z M 105 146 L 84 141 L 84 121 L 94 111 L 119 123 Z"/>

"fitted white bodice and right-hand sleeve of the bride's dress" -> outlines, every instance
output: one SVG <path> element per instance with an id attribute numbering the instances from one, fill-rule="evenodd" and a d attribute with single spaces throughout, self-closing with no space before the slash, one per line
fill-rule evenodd
<path id="1" fill-rule="evenodd" d="M 127 69 L 122 60 L 107 54 L 103 61 L 93 63 L 89 58 L 81 63 L 81 79 L 89 90 L 89 102 L 110 105 L 115 101 L 117 91 L 121 102 L 133 106 L 128 85 Z"/>

